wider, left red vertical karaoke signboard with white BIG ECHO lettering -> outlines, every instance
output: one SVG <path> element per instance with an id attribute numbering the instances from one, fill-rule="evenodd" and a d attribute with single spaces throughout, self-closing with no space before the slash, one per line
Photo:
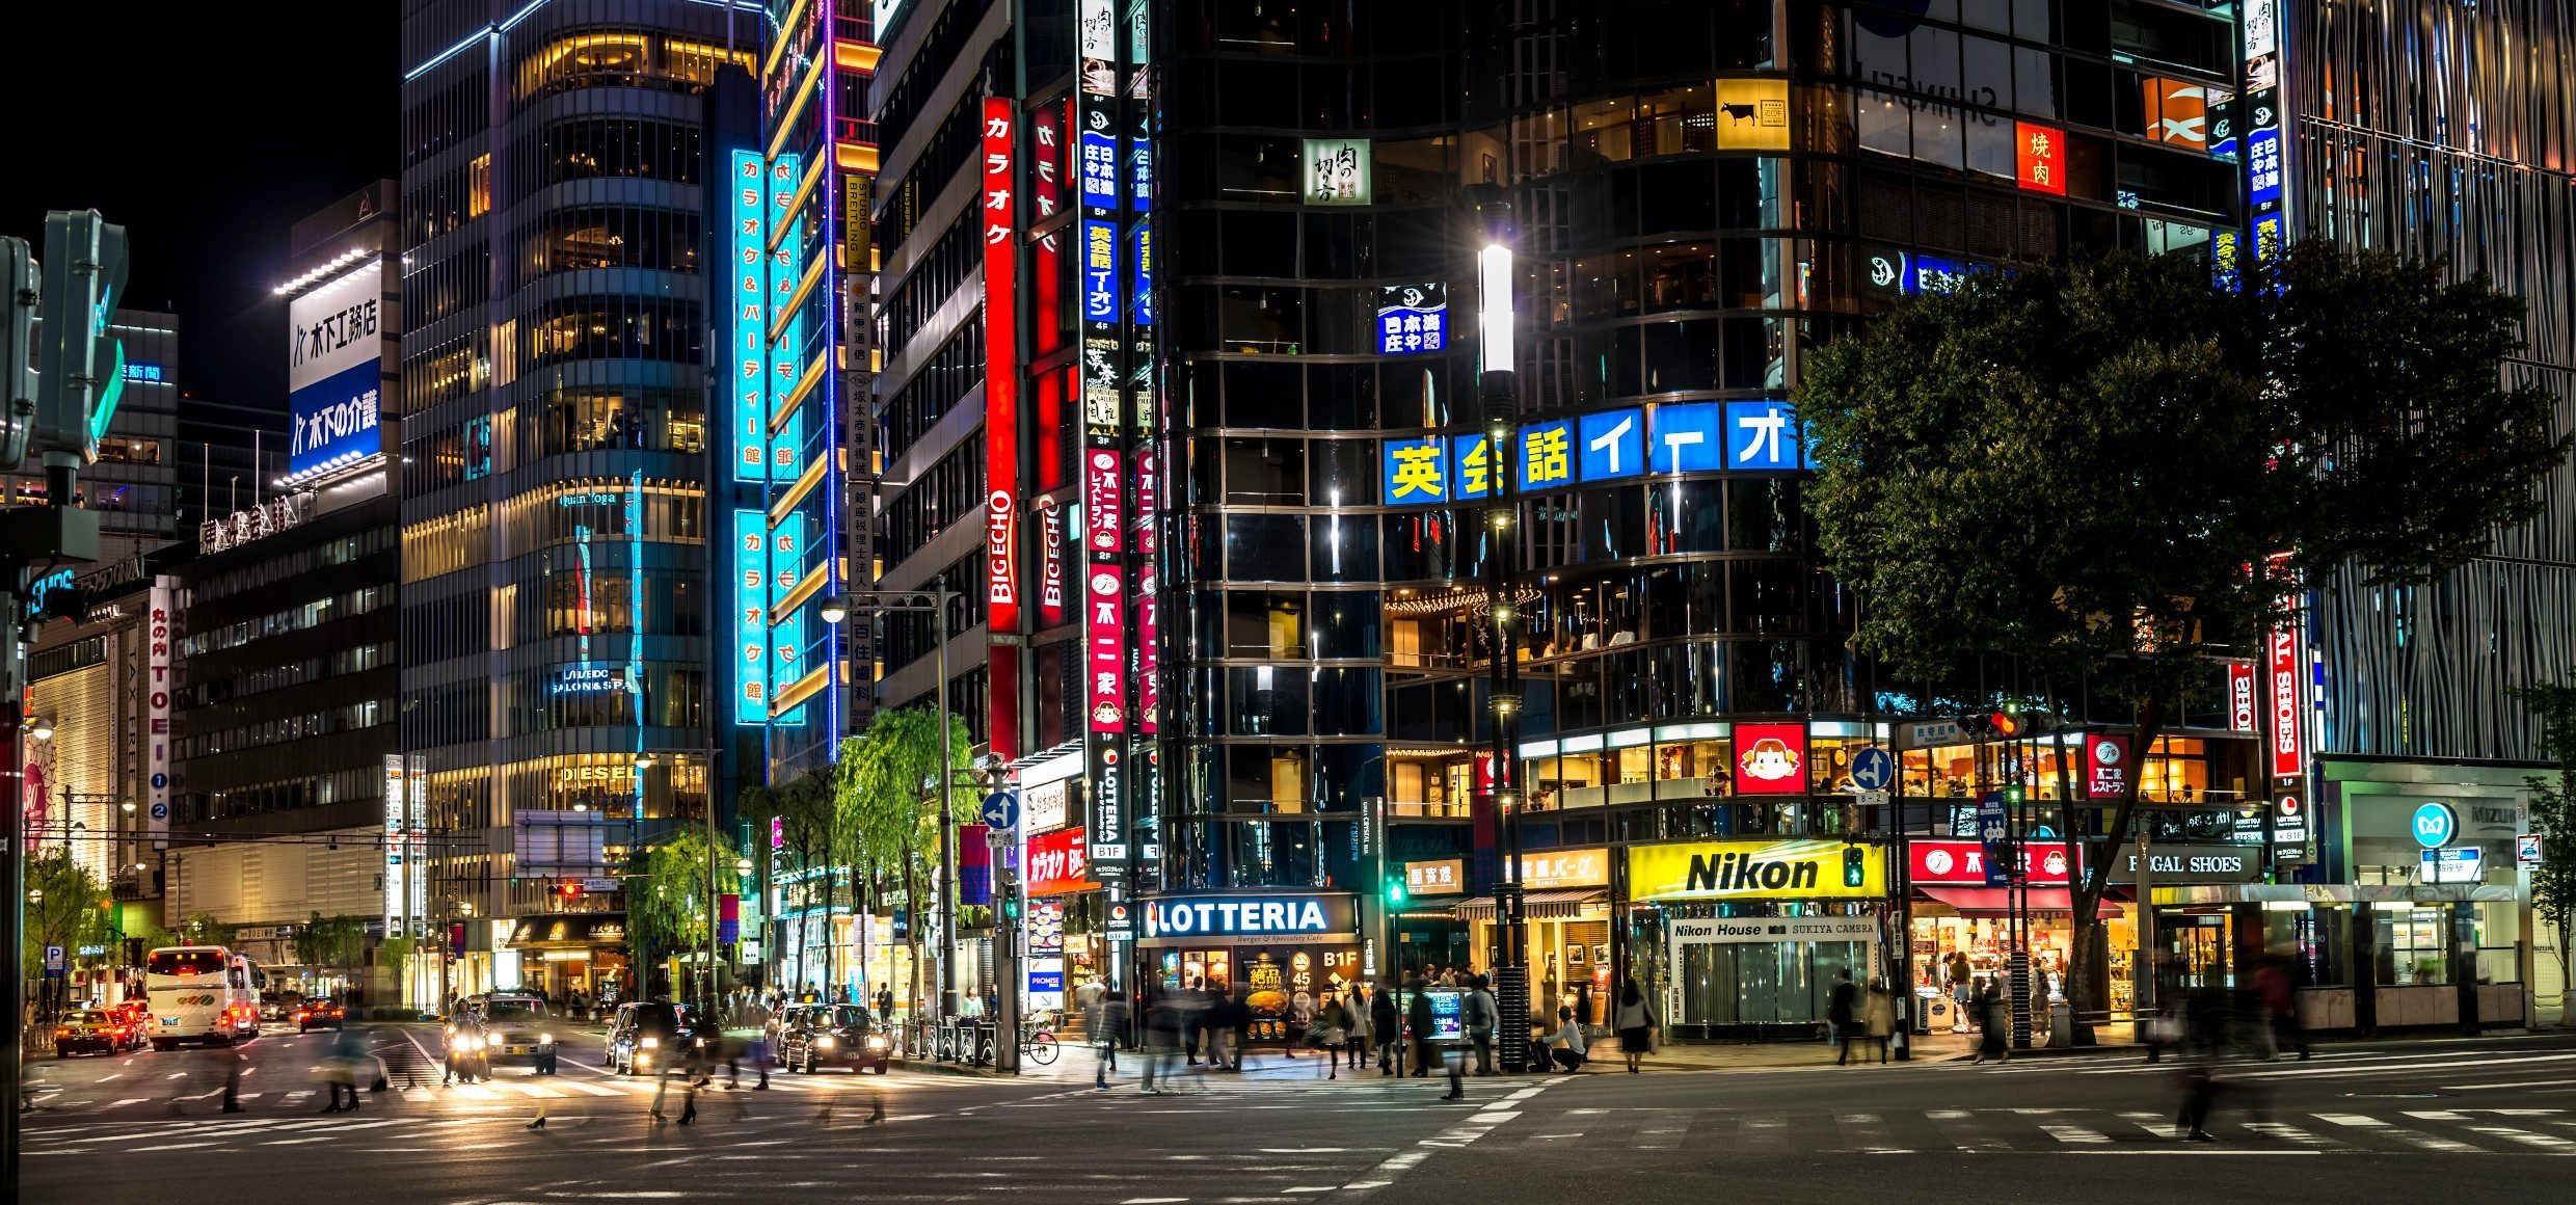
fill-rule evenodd
<path id="1" fill-rule="evenodd" d="M 984 615 L 994 636 L 1020 631 L 1020 219 L 1012 100 L 984 98 Z M 987 734 L 994 757 L 1020 757 L 1020 646 L 989 651 Z"/>

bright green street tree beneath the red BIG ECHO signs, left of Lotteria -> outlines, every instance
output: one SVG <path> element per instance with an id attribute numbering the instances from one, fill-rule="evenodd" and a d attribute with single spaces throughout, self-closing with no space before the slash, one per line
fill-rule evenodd
<path id="1" fill-rule="evenodd" d="M 938 847 L 940 772 L 961 772 L 974 760 L 966 721 L 945 716 L 948 757 L 940 757 L 940 716 L 930 708 L 889 708 L 868 718 L 868 731 L 840 744 L 835 829 L 871 868 L 899 868 L 904 906 L 914 911 L 912 945 L 922 942 L 922 857 Z M 961 778 L 963 780 L 963 778 Z M 948 824 L 971 821 L 974 790 L 956 790 Z M 922 999 L 922 960 L 912 958 L 912 999 Z"/>

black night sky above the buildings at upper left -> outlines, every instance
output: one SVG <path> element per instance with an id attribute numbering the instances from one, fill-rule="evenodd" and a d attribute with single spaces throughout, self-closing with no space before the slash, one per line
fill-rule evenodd
<path id="1" fill-rule="evenodd" d="M 180 386 L 286 409 L 286 232 L 399 170 L 399 5 L 15 5 L 0 232 L 126 227 L 126 304 L 180 317 Z M 67 103 L 85 98 L 88 103 Z"/>

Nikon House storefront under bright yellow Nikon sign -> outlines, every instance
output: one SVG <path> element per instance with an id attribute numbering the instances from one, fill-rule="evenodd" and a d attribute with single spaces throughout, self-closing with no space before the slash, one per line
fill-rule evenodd
<path id="1" fill-rule="evenodd" d="M 1886 847 L 1631 845 L 1628 966 L 1672 1038 L 1811 1038 L 1842 971 L 1886 973 Z"/>

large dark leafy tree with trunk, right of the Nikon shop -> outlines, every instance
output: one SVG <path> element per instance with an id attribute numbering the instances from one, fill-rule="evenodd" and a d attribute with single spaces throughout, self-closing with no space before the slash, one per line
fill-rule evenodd
<path id="1" fill-rule="evenodd" d="M 2318 242 L 2226 283 L 2107 255 L 1917 296 L 1808 355 L 1798 389 L 1852 641 L 1909 680 L 2002 659 L 2040 695 L 2125 700 L 2146 757 L 2303 582 L 2421 582 L 2537 515 L 2568 440 L 2550 397 L 2501 384 L 2519 312 L 2483 278 Z M 2138 811 L 2125 780 L 2102 852 Z M 2089 832 L 2074 801 L 2061 821 Z M 2107 886 L 2107 857 L 2084 863 L 2079 1014 Z"/>

